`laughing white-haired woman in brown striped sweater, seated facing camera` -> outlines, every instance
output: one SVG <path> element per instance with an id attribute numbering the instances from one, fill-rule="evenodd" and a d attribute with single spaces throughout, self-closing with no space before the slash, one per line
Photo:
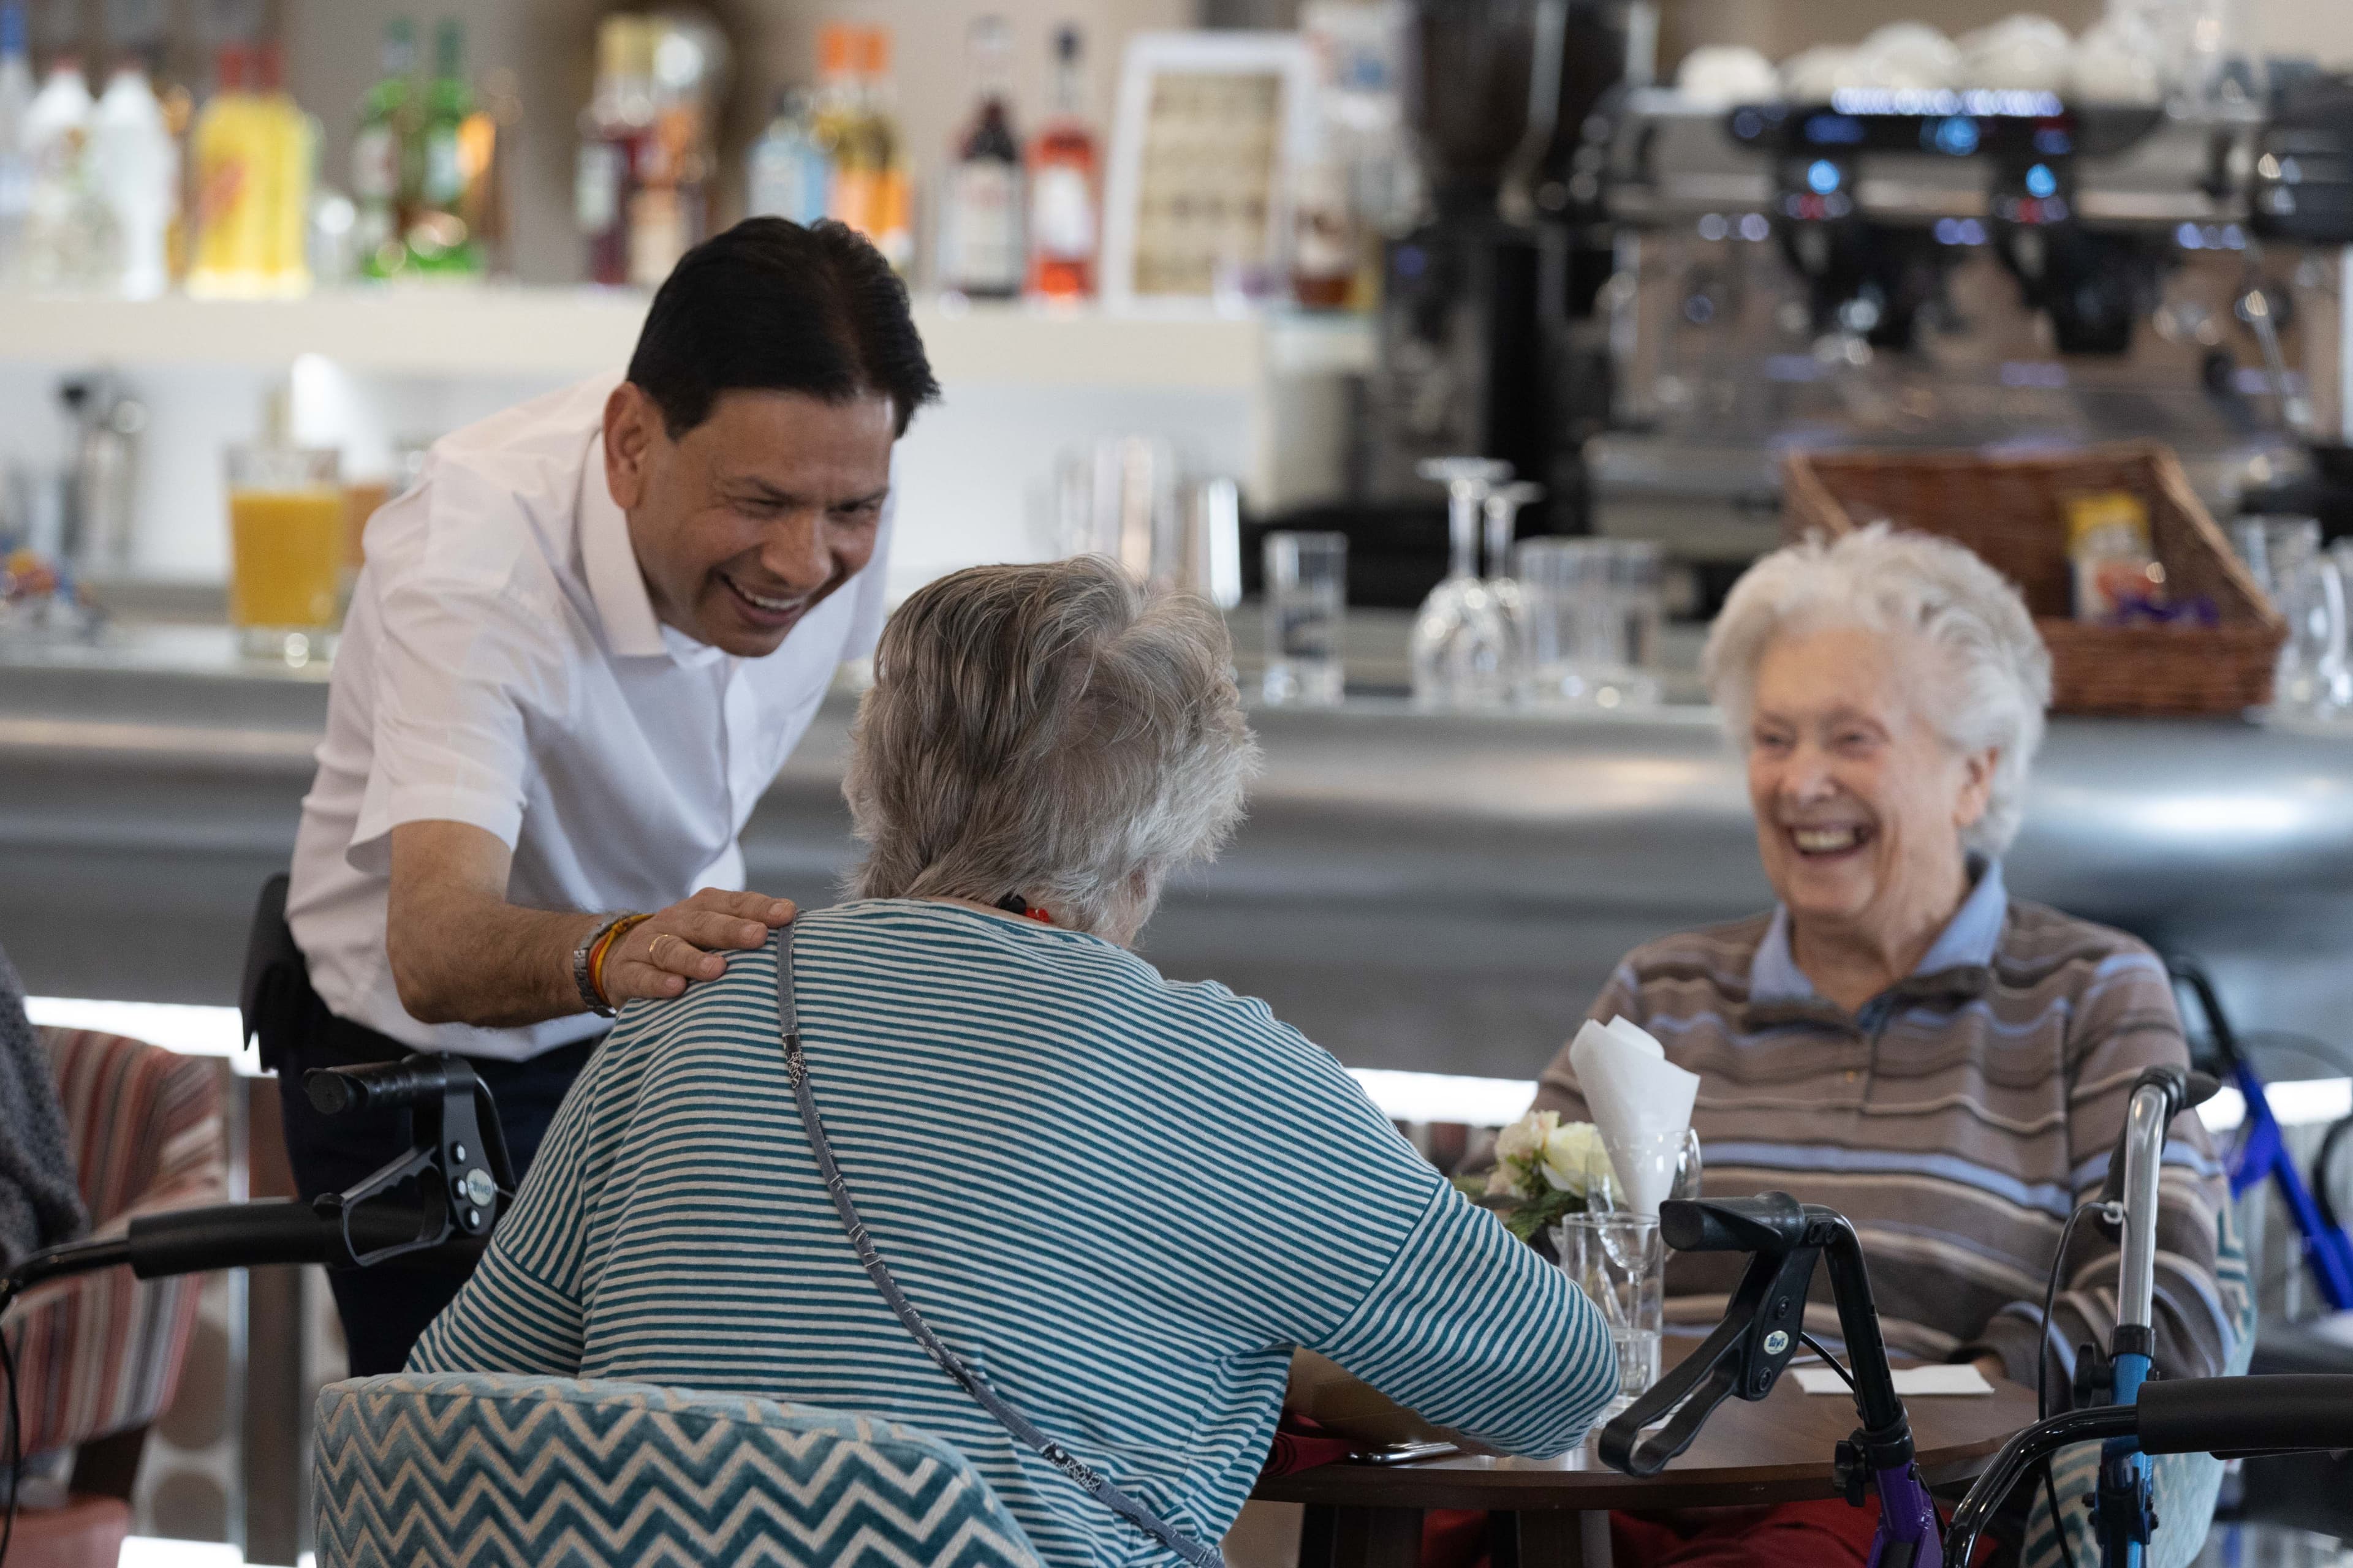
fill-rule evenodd
<path id="1" fill-rule="evenodd" d="M 2045 1331 L 2059 1227 L 2099 1187 L 2134 1077 L 2186 1046 L 2148 947 L 2002 886 L 2049 701 L 2026 607 L 1955 543 L 1864 529 L 1758 562 L 1706 679 L 1779 907 L 1638 947 L 1593 1018 L 1624 1013 L 1699 1074 L 1708 1194 L 1784 1190 L 1854 1220 L 1892 1345 L 2028 1385 L 2047 1356 L 2064 1389 L 2075 1345 L 2108 1342 L 2115 1262 L 2078 1227 Z M 1586 1117 L 1567 1051 L 1537 1105 Z M 2184 1114 L 2158 1232 L 2169 1378 L 2219 1373 L 2240 1333 L 2221 1208 Z M 1671 1316 L 1713 1321 L 1741 1262 L 1673 1258 Z M 1868 1521 L 1800 1507 L 1739 1542 L 1628 1540 L 1619 1561 L 1859 1563 Z"/>

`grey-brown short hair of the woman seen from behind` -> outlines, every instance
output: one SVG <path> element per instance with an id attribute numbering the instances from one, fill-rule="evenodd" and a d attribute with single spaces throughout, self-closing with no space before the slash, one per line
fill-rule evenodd
<path id="1" fill-rule="evenodd" d="M 1257 766 L 1205 602 L 1101 555 L 958 571 L 882 630 L 842 778 L 849 891 L 1024 893 L 1099 931 L 1224 846 Z"/>

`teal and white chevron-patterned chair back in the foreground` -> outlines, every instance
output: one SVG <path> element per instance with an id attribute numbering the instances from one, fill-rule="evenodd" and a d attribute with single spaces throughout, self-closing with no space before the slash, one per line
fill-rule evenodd
<path id="1" fill-rule="evenodd" d="M 645 1382 L 334 1382 L 313 1495 L 318 1568 L 1038 1568 L 934 1436 Z"/>

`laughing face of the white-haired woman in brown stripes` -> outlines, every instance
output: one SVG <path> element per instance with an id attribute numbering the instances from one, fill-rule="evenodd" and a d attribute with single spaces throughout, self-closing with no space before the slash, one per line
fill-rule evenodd
<path id="1" fill-rule="evenodd" d="M 1864 628 L 1784 632 L 1758 661 L 1748 804 L 1791 919 L 1817 931 L 1941 924 L 1967 891 L 1960 835 L 1993 755 L 1925 712 L 1934 654 Z"/>

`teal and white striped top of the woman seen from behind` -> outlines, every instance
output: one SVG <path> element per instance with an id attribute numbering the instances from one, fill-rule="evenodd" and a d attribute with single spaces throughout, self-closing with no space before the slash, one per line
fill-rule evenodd
<path id="1" fill-rule="evenodd" d="M 1591 1302 L 1264 1001 L 946 903 L 838 905 L 791 936 L 816 1105 L 908 1300 L 1188 1533 L 1240 1512 L 1294 1345 L 1508 1453 L 1569 1448 L 1614 1392 Z M 887 1415 L 967 1453 L 1054 1568 L 1174 1561 L 1019 1450 L 875 1295 L 793 1110 L 772 950 L 621 1016 L 409 1368 Z"/>

